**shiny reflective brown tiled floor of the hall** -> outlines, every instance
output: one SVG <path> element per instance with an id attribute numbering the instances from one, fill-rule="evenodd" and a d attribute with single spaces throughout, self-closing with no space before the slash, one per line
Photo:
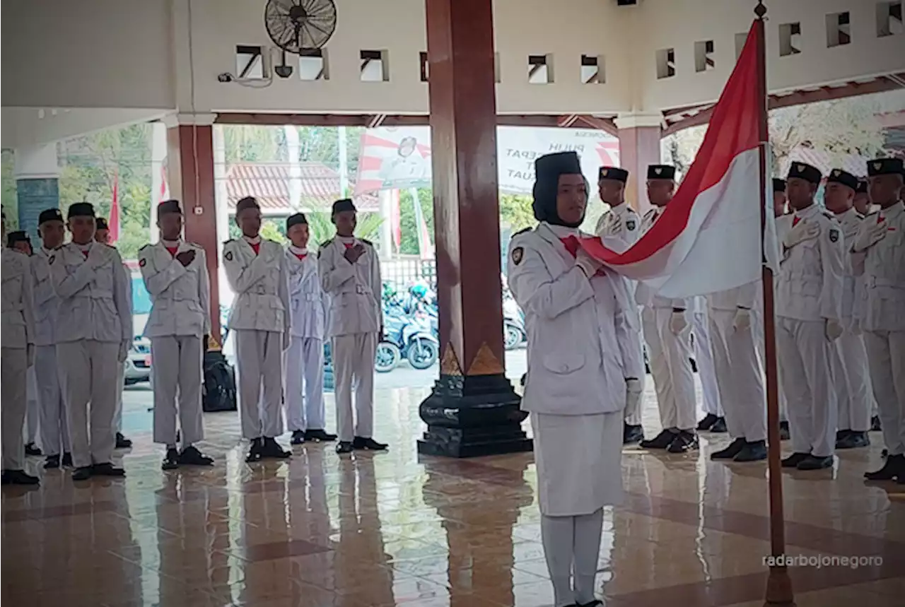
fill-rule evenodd
<path id="1" fill-rule="evenodd" d="M 214 469 L 164 473 L 149 433 L 138 433 L 123 459 L 125 480 L 76 488 L 68 474 L 41 470 L 39 489 L 4 488 L 0 605 L 550 604 L 532 456 L 419 458 L 425 394 L 378 393 L 385 454 L 340 460 L 331 446 L 312 444 L 289 462 L 248 466 L 236 415 L 208 414 Z M 657 427 L 650 394 L 645 423 Z M 710 436 L 693 456 L 625 451 L 629 494 L 607 512 L 599 561 L 607 605 L 763 604 L 765 465 L 707 460 L 725 441 Z M 833 470 L 784 475 L 790 555 L 882 560 L 795 567 L 799 607 L 903 603 L 905 488 L 861 479 L 879 451 L 876 444 L 843 453 Z"/>

